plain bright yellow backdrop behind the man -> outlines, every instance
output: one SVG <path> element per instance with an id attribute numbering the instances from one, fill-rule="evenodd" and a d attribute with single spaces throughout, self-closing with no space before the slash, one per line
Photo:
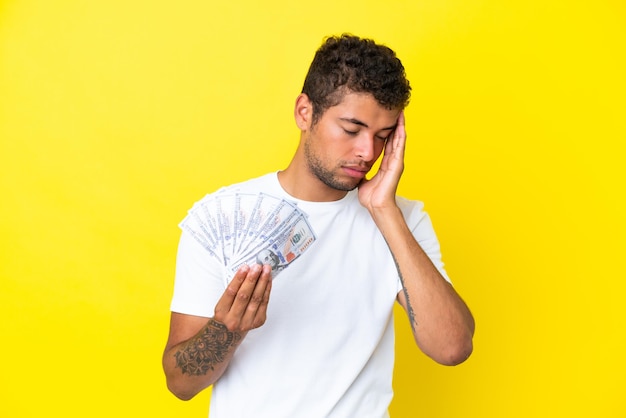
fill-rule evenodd
<path id="1" fill-rule="evenodd" d="M 0 416 L 206 416 L 208 392 L 176 400 L 160 366 L 177 224 L 286 166 L 308 64 L 341 32 L 405 63 L 400 192 L 477 321 L 446 368 L 398 316 L 392 417 L 626 416 L 609 0 L 0 2 Z"/>

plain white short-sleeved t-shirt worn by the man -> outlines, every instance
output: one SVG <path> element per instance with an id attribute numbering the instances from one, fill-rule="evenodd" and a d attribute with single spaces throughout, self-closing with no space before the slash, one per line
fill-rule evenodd
<path id="1" fill-rule="evenodd" d="M 388 416 L 393 305 L 402 286 L 357 191 L 334 202 L 301 201 L 282 189 L 276 173 L 226 189 L 296 202 L 317 239 L 274 280 L 267 320 L 248 333 L 215 383 L 210 417 Z M 448 280 L 422 203 L 397 201 L 417 241 Z M 183 232 L 171 310 L 211 317 L 226 283 L 223 266 Z"/>

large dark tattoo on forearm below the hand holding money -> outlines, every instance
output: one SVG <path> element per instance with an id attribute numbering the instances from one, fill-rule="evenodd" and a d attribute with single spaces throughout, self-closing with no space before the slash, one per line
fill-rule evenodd
<path id="1" fill-rule="evenodd" d="M 200 335 L 174 354 L 176 367 L 180 367 L 183 374 L 205 375 L 224 361 L 229 349 L 240 339 L 238 333 L 229 331 L 226 325 L 211 318 Z"/>

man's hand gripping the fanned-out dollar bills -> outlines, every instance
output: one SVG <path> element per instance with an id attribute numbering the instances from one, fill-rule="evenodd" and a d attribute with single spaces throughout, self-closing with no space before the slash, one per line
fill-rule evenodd
<path id="1" fill-rule="evenodd" d="M 270 291 L 270 266 L 242 266 L 215 306 L 215 319 L 231 331 L 260 327 L 265 323 Z"/>

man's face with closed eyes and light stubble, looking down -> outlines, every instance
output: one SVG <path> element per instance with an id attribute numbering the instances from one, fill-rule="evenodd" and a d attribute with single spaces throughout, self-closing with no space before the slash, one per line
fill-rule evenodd
<path id="1" fill-rule="evenodd" d="M 400 110 L 387 110 L 370 94 L 348 93 L 306 132 L 309 171 L 326 186 L 355 189 L 393 133 Z"/>

